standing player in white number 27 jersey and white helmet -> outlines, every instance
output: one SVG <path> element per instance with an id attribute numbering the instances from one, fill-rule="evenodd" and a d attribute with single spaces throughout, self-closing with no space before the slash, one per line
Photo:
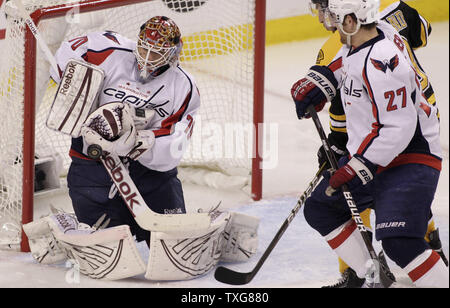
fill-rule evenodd
<path id="1" fill-rule="evenodd" d="M 417 286 L 448 287 L 448 269 L 424 240 L 441 168 L 437 109 L 428 104 L 400 39 L 377 28 L 379 1 L 330 0 L 329 25 L 345 46 L 332 63 L 313 66 L 294 85 L 297 115 L 321 109 L 341 89 L 347 150 L 340 169 L 326 177 L 305 204 L 308 223 L 364 278 L 370 259 L 339 191 L 347 184 L 360 211 L 360 194 L 373 191 L 376 238 Z"/>

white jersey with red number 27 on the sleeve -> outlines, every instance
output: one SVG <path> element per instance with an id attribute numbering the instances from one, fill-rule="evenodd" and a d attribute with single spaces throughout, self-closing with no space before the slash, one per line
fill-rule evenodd
<path id="1" fill-rule="evenodd" d="M 347 149 L 381 167 L 419 163 L 440 170 L 437 109 L 423 96 L 402 41 L 378 32 L 356 49 L 343 46 L 329 65 L 341 88 Z"/>

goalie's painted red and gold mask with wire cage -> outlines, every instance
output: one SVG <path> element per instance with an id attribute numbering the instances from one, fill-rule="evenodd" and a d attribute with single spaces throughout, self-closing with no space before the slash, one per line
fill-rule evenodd
<path id="1" fill-rule="evenodd" d="M 182 47 L 180 29 L 173 20 L 165 16 L 149 19 L 141 26 L 134 51 L 141 77 L 156 77 L 178 63 Z"/>

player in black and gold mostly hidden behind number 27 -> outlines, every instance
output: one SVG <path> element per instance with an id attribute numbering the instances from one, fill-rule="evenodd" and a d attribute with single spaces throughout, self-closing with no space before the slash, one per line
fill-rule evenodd
<path id="1" fill-rule="evenodd" d="M 325 20 L 327 17 L 323 14 L 323 10 L 328 6 L 328 0 L 311 0 L 310 6 L 313 13 L 319 17 L 319 21 L 324 25 L 324 27 L 333 32 L 333 34 L 320 49 L 316 61 L 317 65 L 328 65 L 332 62 L 335 55 L 342 47 L 340 37 L 336 29 L 327 26 L 327 22 Z M 422 17 L 416 9 L 408 6 L 403 1 L 381 0 L 380 16 L 382 20 L 391 24 L 402 36 L 411 62 L 421 82 L 424 95 L 430 104 L 435 105 L 436 98 L 433 88 L 423 68 L 419 64 L 416 55 L 414 54 L 415 49 L 425 47 L 427 45 L 428 36 L 431 33 L 430 23 Z M 332 150 L 335 152 L 336 158 L 339 159 L 347 154 L 346 144 L 348 140 L 345 113 L 340 100 L 340 95 L 336 95 L 336 98 L 331 102 L 329 114 L 330 134 L 328 135 L 328 141 L 330 142 Z M 323 146 L 319 149 L 317 156 L 319 165 L 322 165 L 327 161 Z M 361 218 L 369 229 L 371 229 L 370 212 L 371 209 L 367 209 L 361 213 Z M 443 253 L 442 244 L 439 239 L 439 229 L 436 229 L 435 227 L 432 213 L 430 213 L 425 240 L 429 243 L 431 248 L 439 253 L 445 264 L 448 266 L 448 261 Z M 380 255 L 380 261 L 387 266 L 382 252 Z M 339 271 L 342 277 L 338 283 L 325 286 L 325 288 L 359 288 L 364 283 L 364 279 L 358 278 L 356 273 L 341 259 L 339 259 Z M 387 271 L 389 271 L 388 267 Z M 391 273 L 389 273 L 389 275 L 395 279 Z"/>

